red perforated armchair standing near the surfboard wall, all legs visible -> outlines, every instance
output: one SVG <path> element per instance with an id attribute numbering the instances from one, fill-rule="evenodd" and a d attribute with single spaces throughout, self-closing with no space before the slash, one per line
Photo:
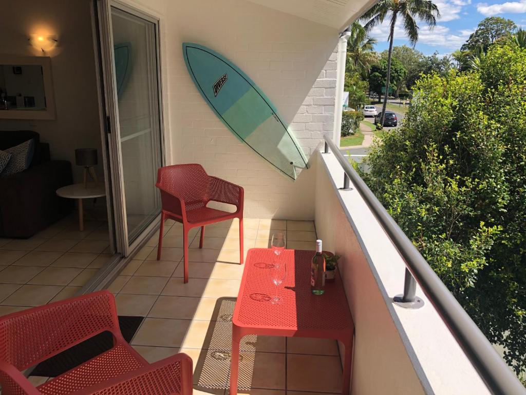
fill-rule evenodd
<path id="1" fill-rule="evenodd" d="M 188 282 L 188 232 L 201 227 L 199 248 L 203 248 L 205 225 L 239 218 L 239 255 L 243 264 L 243 189 L 241 186 L 206 174 L 200 164 L 181 164 L 161 167 L 157 184 L 161 192 L 163 210 L 157 246 L 157 260 L 161 259 L 164 222 L 167 218 L 183 223 L 185 283 Z M 208 208 L 215 201 L 235 205 L 234 213 Z"/>

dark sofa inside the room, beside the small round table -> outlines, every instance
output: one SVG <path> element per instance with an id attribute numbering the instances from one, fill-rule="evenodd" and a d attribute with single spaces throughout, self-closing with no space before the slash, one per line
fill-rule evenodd
<path id="1" fill-rule="evenodd" d="M 73 183 L 71 163 L 52 161 L 49 144 L 29 130 L 0 131 L 0 150 L 35 139 L 28 169 L 2 177 L 0 174 L 0 237 L 28 238 L 63 218 L 73 208 L 71 199 L 56 190 Z"/>

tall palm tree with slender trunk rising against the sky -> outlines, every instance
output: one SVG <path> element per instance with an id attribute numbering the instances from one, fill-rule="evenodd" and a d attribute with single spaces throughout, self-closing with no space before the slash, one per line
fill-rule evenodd
<path id="1" fill-rule="evenodd" d="M 383 126 L 383 117 L 386 114 L 387 93 L 389 92 L 389 78 L 391 77 L 391 55 L 393 50 L 393 38 L 395 36 L 395 25 L 400 17 L 403 22 L 403 29 L 409 37 L 409 42 L 414 46 L 418 41 L 418 25 L 416 19 L 420 19 L 430 28 L 437 24 L 437 17 L 440 16 L 438 7 L 431 0 L 380 0 L 372 6 L 363 16 L 362 21 L 366 32 L 383 22 L 387 15 L 389 21 L 389 53 L 387 56 L 387 81 L 386 94 L 383 96 L 382 118 L 380 125 Z"/>

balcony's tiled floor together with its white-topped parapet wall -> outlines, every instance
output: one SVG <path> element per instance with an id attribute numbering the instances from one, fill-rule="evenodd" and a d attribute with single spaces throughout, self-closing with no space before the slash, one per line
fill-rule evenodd
<path id="1" fill-rule="evenodd" d="M 403 290 L 406 262 L 357 185 L 340 189 L 344 171 L 338 157 L 316 151 L 314 159 L 315 220 L 245 219 L 245 254 L 267 248 L 271 235 L 283 232 L 289 249 L 313 249 L 320 238 L 325 250 L 341 255 L 339 270 L 355 321 L 351 393 L 491 393 L 488 378 L 468 358 L 466 344 L 456 340 L 433 295 L 417 285 L 423 308 L 393 304 Z M 198 249 L 197 230 L 191 233 L 188 284 L 182 281 L 181 232 L 180 224 L 168 220 L 163 260 L 155 260 L 154 234 L 107 288 L 116 296 L 119 315 L 145 317 L 131 344 L 149 362 L 185 352 L 194 360 L 196 393 L 226 394 L 230 317 L 244 269 L 238 223 L 207 226 L 204 249 Z M 3 297 L 2 311 L 23 308 L 9 307 L 15 296 Z M 341 391 L 336 341 L 253 336 L 244 344 L 240 392 Z M 32 377 L 35 383 L 46 379 Z"/>

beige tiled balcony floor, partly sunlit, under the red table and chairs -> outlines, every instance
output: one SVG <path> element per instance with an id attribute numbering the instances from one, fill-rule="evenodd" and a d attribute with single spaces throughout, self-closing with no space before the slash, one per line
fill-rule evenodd
<path id="1" fill-rule="evenodd" d="M 267 248 L 275 232 L 286 233 L 288 248 L 315 248 L 312 222 L 245 219 L 244 228 L 245 254 L 249 248 Z M 194 360 L 195 393 L 228 392 L 225 382 L 220 388 L 205 386 L 208 377 L 217 376 L 225 363 L 229 365 L 229 357 L 220 367 L 211 366 L 207 358 L 210 342 L 215 341 L 213 336 L 219 336 L 221 343 L 230 342 L 230 327 L 220 324 L 222 315 L 215 310 L 225 298 L 237 297 L 244 268 L 239 265 L 238 235 L 237 220 L 209 225 L 204 248 L 199 250 L 199 235 L 194 230 L 190 236 L 190 281 L 184 284 L 182 227 L 167 221 L 163 259 L 155 260 L 154 235 L 109 287 L 116 295 L 119 314 L 146 317 L 131 344 L 148 361 L 179 351 Z M 335 341 L 258 337 L 254 352 L 241 355 L 250 363 L 249 369 L 240 371 L 240 382 L 250 383 L 251 390 L 240 393 L 312 395 L 341 391 L 341 364 Z"/>

